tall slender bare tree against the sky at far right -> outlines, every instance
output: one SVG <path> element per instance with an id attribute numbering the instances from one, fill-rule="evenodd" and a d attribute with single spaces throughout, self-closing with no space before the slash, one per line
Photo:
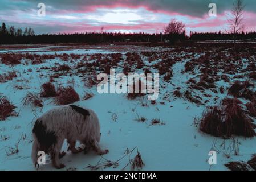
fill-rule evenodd
<path id="1" fill-rule="evenodd" d="M 243 0 L 235 0 L 233 3 L 233 8 L 231 10 L 231 17 L 229 19 L 229 28 L 231 34 L 233 34 L 234 39 L 234 49 L 236 43 L 236 35 L 245 29 L 245 23 L 243 19 L 243 12 L 245 5 L 243 5 Z"/>

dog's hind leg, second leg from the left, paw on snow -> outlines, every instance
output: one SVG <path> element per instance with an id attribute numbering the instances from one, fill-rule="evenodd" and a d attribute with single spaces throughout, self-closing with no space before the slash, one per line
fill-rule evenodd
<path id="1" fill-rule="evenodd" d="M 54 144 L 54 146 L 52 147 L 52 152 L 51 152 L 51 159 L 52 159 L 52 164 L 54 167 L 56 167 L 57 169 L 61 169 L 64 168 L 65 165 L 61 164 L 59 162 L 59 154 L 60 154 L 60 150 L 62 148 L 62 144 L 64 142 L 64 138 L 59 138 L 57 140 L 57 143 Z"/>

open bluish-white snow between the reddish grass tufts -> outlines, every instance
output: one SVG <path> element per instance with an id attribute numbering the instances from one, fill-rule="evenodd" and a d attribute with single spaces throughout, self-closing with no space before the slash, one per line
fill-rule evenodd
<path id="1" fill-rule="evenodd" d="M 212 137 L 198 131 L 193 121 L 195 117 L 200 117 L 206 106 L 219 103 L 222 98 L 227 97 L 227 91 L 224 94 L 214 93 L 205 90 L 205 93 L 211 94 L 212 97 L 206 98 L 202 92 L 193 90 L 194 94 L 200 94 L 202 103 L 209 100 L 206 104 L 195 104 L 188 101 L 184 97 L 174 97 L 173 91 L 178 87 L 181 92 L 185 92 L 189 85 L 187 81 L 190 78 L 197 79 L 197 74 L 190 72 L 184 73 L 185 64 L 192 59 L 198 59 L 202 54 L 201 51 L 194 51 L 191 48 L 188 51 L 172 51 L 172 48 L 161 47 L 135 47 L 123 46 L 123 48 L 109 49 L 94 48 L 91 49 L 68 49 L 52 51 L 51 48 L 27 48 L 19 49 L 14 52 L 25 53 L 32 52 L 38 55 L 42 54 L 79 54 L 79 59 L 69 57 L 68 61 L 63 61 L 59 57 L 55 59 L 44 60 L 41 64 L 31 64 L 31 60 L 23 59 L 21 64 L 6 65 L 0 64 L 0 74 L 3 75 L 8 71 L 15 71 L 17 77 L 13 80 L 0 83 L 1 96 L 7 96 L 17 108 L 17 117 L 8 117 L 5 121 L 0 121 L 0 170 L 34 170 L 30 158 L 32 136 L 31 130 L 35 119 L 45 111 L 55 106 L 53 98 L 43 98 L 43 107 L 32 108 L 22 105 L 22 98 L 27 92 L 40 93 L 40 85 L 49 80 L 49 76 L 55 71 L 51 67 L 58 64 L 68 64 L 71 70 L 56 78 L 55 85 L 71 85 L 80 96 L 80 101 L 75 104 L 88 107 L 95 110 L 99 116 L 101 123 L 101 147 L 108 148 L 109 153 L 104 155 L 105 159 L 115 162 L 121 159 L 125 152 L 138 147 L 138 150 L 145 163 L 143 170 L 227 170 L 224 164 L 234 160 L 247 161 L 251 158 L 251 154 L 255 153 L 254 138 L 237 137 L 239 141 L 239 155 L 234 155 L 233 140 L 220 137 Z M 126 53 L 131 49 L 137 52 L 141 60 L 144 62 L 143 68 L 150 68 L 152 72 L 157 72 L 153 65 L 161 61 L 159 57 L 149 61 L 148 57 L 142 52 L 149 52 L 149 55 L 160 54 L 163 52 L 171 59 L 180 59 L 172 65 L 173 76 L 169 81 L 160 77 L 160 96 L 156 100 L 156 105 L 152 105 L 147 97 L 137 98 L 137 100 L 128 100 L 126 94 L 99 94 L 96 86 L 88 88 L 84 86 L 84 77 L 87 73 L 79 73 L 76 64 L 83 62 L 84 57 L 94 55 L 95 53 L 117 53 L 120 52 L 125 60 Z M 43 51 L 42 51 L 43 50 Z M 10 49 L 2 49 L 0 53 L 6 53 Z M 168 52 L 169 51 L 169 52 Z M 86 56 L 85 56 L 86 55 Z M 108 55 L 104 55 L 108 56 Z M 252 57 L 255 59 L 255 57 Z M 88 59 L 87 59 L 88 60 Z M 116 67 L 117 71 L 122 72 L 124 60 L 121 60 Z M 88 60 L 92 61 L 92 60 Z M 40 69 L 42 67 L 49 69 Z M 246 63 L 245 63 L 246 66 Z M 135 72 L 143 72 L 141 69 L 133 69 Z M 30 70 L 31 69 L 31 70 Z M 28 71 L 29 70 L 29 71 Z M 99 71 L 100 72 L 100 71 Z M 242 80 L 242 79 L 241 79 Z M 227 88 L 229 84 L 224 81 L 216 82 L 218 88 L 224 86 Z M 86 92 L 92 92 L 94 97 L 89 100 L 83 100 Z M 218 98 L 214 100 L 213 98 Z M 164 104 L 160 104 L 164 102 Z M 137 121 L 137 118 L 145 117 L 145 122 Z M 160 118 L 165 125 L 151 125 L 151 119 Z M 5 140 L 4 138 L 7 137 Z M 14 147 L 19 142 L 19 151 L 17 154 L 7 155 L 9 147 Z M 67 143 L 64 143 L 63 150 L 67 150 Z M 210 166 L 208 164 L 208 152 L 210 150 L 217 151 L 217 165 Z M 137 154 L 132 152 L 131 158 Z M 230 154 L 230 155 L 229 155 Z M 108 167 L 106 170 L 121 170 L 129 163 L 129 155 L 119 160 L 119 165 L 115 168 Z M 101 156 L 90 152 L 88 154 L 70 154 L 68 153 L 61 161 L 66 164 L 63 170 L 90 170 L 86 168 L 89 164 L 96 165 L 99 161 L 104 160 Z M 50 159 L 47 158 L 47 164 L 41 166 L 39 170 L 53 170 Z M 104 169 L 104 168 L 101 168 Z M 126 170 L 131 169 L 131 165 L 125 167 Z"/>

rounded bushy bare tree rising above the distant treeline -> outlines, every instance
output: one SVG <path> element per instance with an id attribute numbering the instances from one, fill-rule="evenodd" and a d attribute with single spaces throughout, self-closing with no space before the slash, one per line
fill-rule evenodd
<path id="1" fill-rule="evenodd" d="M 165 34 L 182 34 L 185 31 L 185 23 L 176 19 L 170 20 L 170 23 L 164 27 Z"/>

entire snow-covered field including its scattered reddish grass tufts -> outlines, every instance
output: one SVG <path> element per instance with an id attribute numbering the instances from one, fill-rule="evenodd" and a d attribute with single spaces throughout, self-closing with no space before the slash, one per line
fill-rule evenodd
<path id="1" fill-rule="evenodd" d="M 102 157 L 94 152 L 67 152 L 61 159 L 66 164 L 63 170 L 90 170 L 88 166 L 101 166 L 107 160 L 114 164 L 99 169 L 130 170 L 129 161 L 137 155 L 137 150 L 145 163 L 143 170 L 227 170 L 224 164 L 247 161 L 256 152 L 255 137 L 213 137 L 199 131 L 195 119 L 201 117 L 206 107 L 220 104 L 223 98 L 232 98 L 233 96 L 228 96 L 227 89 L 234 81 L 248 80 L 255 85 L 255 80 L 247 76 L 251 72 L 249 65 L 256 61 L 250 50 L 231 55 L 228 49 L 209 47 L 1 47 L 0 54 L 11 52 L 23 57 L 20 64 L 0 64 L 0 75 L 3 78 L 0 83 L 0 96 L 6 96 L 17 107 L 16 116 L 0 121 L 0 170 L 35 170 L 30 158 L 31 130 L 37 117 L 56 106 L 54 98 L 40 97 L 41 85 L 49 80 L 56 88 L 72 86 L 80 97 L 80 101 L 75 104 L 88 107 L 97 113 L 101 123 L 100 145 L 109 149 L 109 153 Z M 39 56 L 31 57 L 28 54 Z M 50 59 L 42 59 L 40 56 L 43 55 L 52 56 Z M 198 60 L 202 61 L 199 63 Z M 213 60 L 231 62 L 217 64 Z M 231 69 L 231 63 L 235 69 L 227 70 Z M 68 68 L 62 69 L 61 65 L 68 65 Z M 223 68 L 216 70 L 217 65 Z M 147 100 L 147 96 L 128 100 L 127 94 L 97 93 L 95 75 L 107 71 L 109 67 L 115 68 L 116 73 L 123 73 L 124 68 L 132 73 L 143 73 L 146 68 L 152 73 L 159 73 L 160 90 L 156 104 Z M 209 78 L 214 79 L 214 86 L 208 88 L 196 84 L 202 80 L 202 68 L 214 71 L 207 72 Z M 15 72 L 17 77 L 5 78 L 8 72 Z M 234 77 L 237 75 L 242 76 Z M 225 81 L 226 77 L 229 81 Z M 224 89 L 222 93 L 221 87 Z M 180 97 L 173 93 L 177 90 L 181 93 Z M 251 90 L 255 91 L 254 88 Z M 43 106 L 24 106 L 22 100 L 28 92 L 38 94 Z M 92 93 L 93 97 L 84 100 L 86 93 Z M 245 98 L 240 100 L 243 104 L 249 102 Z M 141 118 L 145 121 L 141 121 Z M 162 123 L 152 125 L 154 118 L 160 119 Z M 18 151 L 10 154 L 10 150 L 15 149 L 17 143 Z M 235 146 L 239 148 L 238 155 L 235 155 Z M 131 152 L 135 147 L 136 150 Z M 66 142 L 63 150 L 67 150 Z M 208 153 L 211 150 L 217 151 L 217 164 L 212 166 L 208 163 Z M 115 163 L 117 160 L 118 165 Z M 53 169 L 55 168 L 52 167 L 49 157 L 46 165 L 39 168 Z"/>

